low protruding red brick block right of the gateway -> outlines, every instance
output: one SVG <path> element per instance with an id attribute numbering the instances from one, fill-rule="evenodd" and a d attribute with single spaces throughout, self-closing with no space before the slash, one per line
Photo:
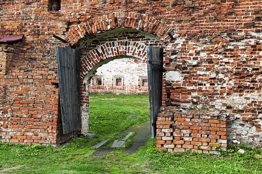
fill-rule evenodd
<path id="1" fill-rule="evenodd" d="M 227 148 L 226 119 L 208 110 L 167 107 L 157 119 L 157 147 L 169 152 L 216 153 Z"/>

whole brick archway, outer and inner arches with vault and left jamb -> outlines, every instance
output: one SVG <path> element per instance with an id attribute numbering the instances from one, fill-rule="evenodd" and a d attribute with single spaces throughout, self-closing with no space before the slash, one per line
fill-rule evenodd
<path id="1" fill-rule="evenodd" d="M 134 57 L 146 61 L 148 45 L 162 47 L 169 52 L 166 44 L 170 40 L 168 32 L 172 31 L 163 22 L 136 12 L 114 12 L 70 26 L 66 39 L 72 48 L 79 49 L 81 53 L 82 134 L 88 132 L 87 81 L 93 76 L 95 69 L 104 62 L 119 57 Z"/>

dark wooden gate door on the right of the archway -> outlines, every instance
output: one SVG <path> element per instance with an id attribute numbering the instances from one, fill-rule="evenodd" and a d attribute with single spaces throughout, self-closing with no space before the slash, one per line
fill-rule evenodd
<path id="1" fill-rule="evenodd" d="M 156 121 L 162 105 L 163 48 L 147 47 L 147 70 L 151 137 L 156 136 Z"/>

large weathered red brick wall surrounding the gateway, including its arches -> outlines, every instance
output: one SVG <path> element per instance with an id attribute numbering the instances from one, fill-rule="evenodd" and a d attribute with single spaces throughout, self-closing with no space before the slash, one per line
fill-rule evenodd
<path id="1" fill-rule="evenodd" d="M 211 152 L 225 149 L 225 142 L 262 147 L 262 0 L 50 2 L 0 1 L 0 35 L 24 35 L 0 42 L 2 141 L 55 146 L 78 133 L 61 132 L 55 46 L 81 51 L 85 133 L 87 84 L 95 70 L 119 57 L 146 61 L 146 46 L 155 45 L 165 52 L 159 148 Z"/>

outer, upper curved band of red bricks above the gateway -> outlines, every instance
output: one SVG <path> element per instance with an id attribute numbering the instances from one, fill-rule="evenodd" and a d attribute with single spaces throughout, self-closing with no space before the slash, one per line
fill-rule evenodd
<path id="1" fill-rule="evenodd" d="M 146 14 L 137 12 L 113 12 L 101 16 L 90 17 L 86 21 L 74 26 L 65 33 L 66 40 L 73 46 L 84 37 L 108 31 L 114 28 L 133 28 L 152 34 L 167 44 L 170 37 L 167 32 L 172 32 L 164 22 Z"/>

